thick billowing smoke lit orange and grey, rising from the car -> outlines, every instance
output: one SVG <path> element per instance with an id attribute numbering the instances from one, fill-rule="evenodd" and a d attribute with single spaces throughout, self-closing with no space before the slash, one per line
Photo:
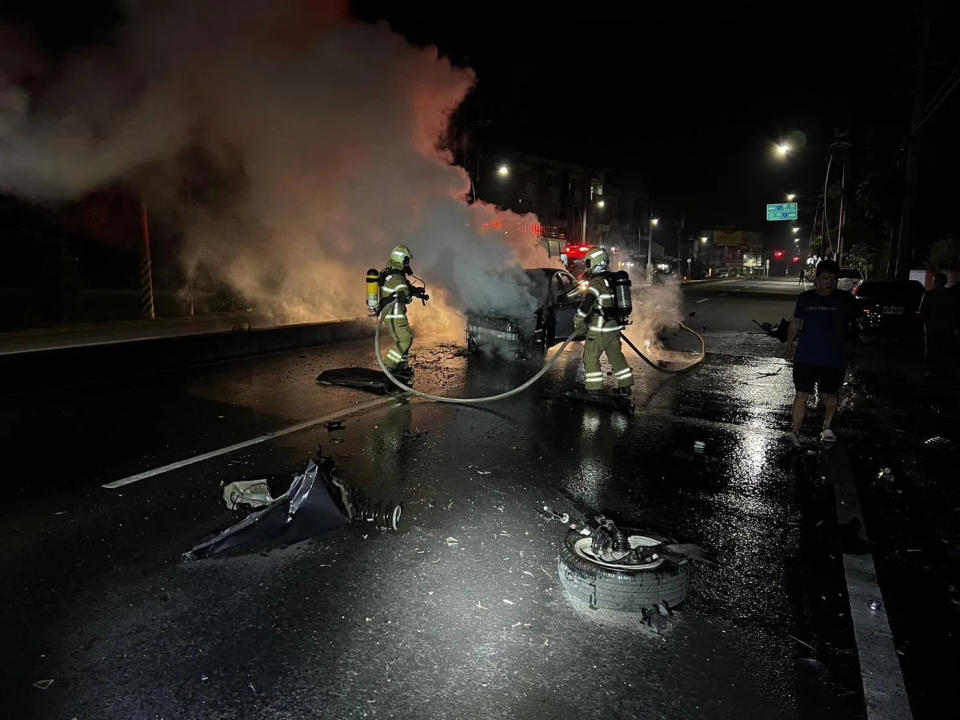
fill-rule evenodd
<path id="1" fill-rule="evenodd" d="M 28 55 L 0 57 L 3 192 L 135 187 L 182 228 L 188 275 L 214 272 L 277 319 L 362 314 L 365 270 L 398 243 L 440 306 L 433 324 L 444 306 L 535 303 L 514 280 L 551 262 L 522 232 L 536 219 L 467 204 L 439 149 L 472 72 L 350 21 L 346 3 L 133 3 L 115 45 L 29 91 L 12 62 Z"/>

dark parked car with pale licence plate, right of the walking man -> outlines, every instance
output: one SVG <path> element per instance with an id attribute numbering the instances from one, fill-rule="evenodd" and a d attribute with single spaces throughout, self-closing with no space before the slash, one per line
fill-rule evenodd
<path id="1" fill-rule="evenodd" d="M 920 301 L 923 285 L 916 280 L 864 280 L 853 290 L 860 308 L 861 337 L 907 337 L 923 328 Z"/>

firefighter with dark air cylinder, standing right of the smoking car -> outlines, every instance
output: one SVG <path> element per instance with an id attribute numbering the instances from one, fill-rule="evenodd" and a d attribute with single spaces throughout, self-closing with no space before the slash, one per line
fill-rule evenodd
<path id="1" fill-rule="evenodd" d="M 584 389 L 591 395 L 602 394 L 603 371 L 600 369 L 600 357 L 606 353 L 613 368 L 613 377 L 617 381 L 616 394 L 628 398 L 633 385 L 633 373 L 620 348 L 623 324 L 617 312 L 614 289 L 607 272 L 610 258 L 606 250 L 597 247 L 587 253 L 584 262 L 587 266 L 585 279 L 589 285 L 574 318 L 577 335 L 582 336 L 586 330 L 583 344 L 583 367 L 586 371 Z"/>

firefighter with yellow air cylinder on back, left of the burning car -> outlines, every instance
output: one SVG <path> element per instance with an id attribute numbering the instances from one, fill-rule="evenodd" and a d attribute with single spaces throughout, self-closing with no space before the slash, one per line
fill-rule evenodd
<path id="1" fill-rule="evenodd" d="M 412 285 L 407 275 L 412 275 L 410 260 L 413 254 L 406 245 L 397 245 L 390 251 L 390 261 L 380 273 L 380 317 L 393 338 L 393 346 L 384 356 L 384 364 L 401 380 L 409 381 L 413 369 L 407 364 L 413 333 L 407 321 L 407 305 L 415 297 L 424 301 L 430 298 L 423 288 Z"/>

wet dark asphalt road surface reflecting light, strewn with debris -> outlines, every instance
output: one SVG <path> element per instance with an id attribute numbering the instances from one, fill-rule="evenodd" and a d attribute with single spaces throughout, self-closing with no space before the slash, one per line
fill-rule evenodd
<path id="1" fill-rule="evenodd" d="M 786 457 L 792 384 L 780 346 L 750 331 L 753 317 L 789 317 L 798 288 L 725 284 L 736 282 L 748 289 L 686 293 L 688 322 L 707 328 L 703 367 L 668 376 L 631 358 L 633 414 L 541 396 L 574 383 L 577 349 L 535 391 L 492 406 L 388 402 L 343 430 L 106 490 L 370 400 L 314 383 L 324 369 L 374 366 L 369 343 L 7 398 L 10 716 L 863 716 L 855 674 L 843 662 L 828 673 L 804 647 L 849 647 L 816 607 L 836 578 L 807 528 L 829 502 L 816 453 Z M 535 370 L 457 349 L 416 347 L 417 387 L 486 395 Z M 223 483 L 292 474 L 318 443 L 345 479 L 403 502 L 399 533 L 354 526 L 181 562 L 239 519 Z M 544 502 L 702 543 L 723 563 L 696 569 L 662 635 L 636 616 L 577 607 L 559 586 L 563 527 L 537 514 Z M 54 682 L 33 685 L 44 679 Z"/>

